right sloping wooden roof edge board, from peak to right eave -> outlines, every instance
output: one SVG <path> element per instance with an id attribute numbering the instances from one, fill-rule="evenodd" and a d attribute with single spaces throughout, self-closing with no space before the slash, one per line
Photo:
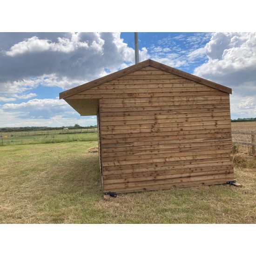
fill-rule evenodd
<path id="1" fill-rule="evenodd" d="M 164 65 L 162 63 L 159 63 L 157 61 L 149 60 L 149 66 L 162 69 L 162 70 L 167 71 L 169 73 L 176 74 L 176 75 L 182 76 L 183 78 L 187 78 L 187 79 L 190 79 L 192 81 L 201 83 L 203 85 L 207 85 L 209 87 L 218 89 L 218 90 L 223 91 L 225 93 L 232 94 L 232 89 L 229 88 L 229 87 L 226 87 L 226 86 L 223 86 L 221 84 L 209 81 L 207 79 L 204 79 L 202 77 L 196 76 L 194 74 L 189 74 L 187 72 L 184 72 L 182 70 L 176 69 L 174 67 L 169 67 L 169 66 Z"/>

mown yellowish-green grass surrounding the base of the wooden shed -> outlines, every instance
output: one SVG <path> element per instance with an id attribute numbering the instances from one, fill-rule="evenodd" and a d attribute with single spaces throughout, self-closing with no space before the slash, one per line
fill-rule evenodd
<path id="1" fill-rule="evenodd" d="M 103 200 L 97 141 L 0 148 L 0 223 L 256 223 L 256 160 L 236 156 L 229 185 Z"/>

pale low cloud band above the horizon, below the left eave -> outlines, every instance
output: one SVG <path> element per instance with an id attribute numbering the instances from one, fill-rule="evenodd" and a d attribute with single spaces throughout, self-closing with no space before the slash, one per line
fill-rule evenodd
<path id="1" fill-rule="evenodd" d="M 0 106 L 1 127 L 96 125 L 94 116 L 80 116 L 64 100 L 30 100 Z"/>

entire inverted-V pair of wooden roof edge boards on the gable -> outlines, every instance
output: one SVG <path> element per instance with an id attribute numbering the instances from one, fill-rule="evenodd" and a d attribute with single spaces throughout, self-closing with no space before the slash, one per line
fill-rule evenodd
<path id="1" fill-rule="evenodd" d="M 103 83 L 106 83 L 108 81 L 114 80 L 114 79 L 119 78 L 119 77 L 121 77 L 123 75 L 132 73 L 132 72 L 134 72 L 136 70 L 139 70 L 139 69 L 141 69 L 143 67 L 148 67 L 148 66 L 156 67 L 156 68 L 159 68 L 161 70 L 167 71 L 167 72 L 169 72 L 171 74 L 176 74 L 176 75 L 179 75 L 179 76 L 181 76 L 183 78 L 187 78 L 187 79 L 190 79 L 192 81 L 195 81 L 195 82 L 201 83 L 203 85 L 209 86 L 211 88 L 218 89 L 218 90 L 223 91 L 225 93 L 232 94 L 232 89 L 229 88 L 229 87 L 226 87 L 226 86 L 223 86 L 221 84 L 218 84 L 218 83 L 206 80 L 204 78 L 198 77 L 198 76 L 193 75 L 193 74 L 186 73 L 186 72 L 184 72 L 182 70 L 179 70 L 179 69 L 176 69 L 174 67 L 169 67 L 169 66 L 164 65 L 162 63 L 159 63 L 157 61 L 146 60 L 146 61 L 141 61 L 141 62 L 139 62 L 139 63 L 137 63 L 137 64 L 135 64 L 133 66 L 126 67 L 124 69 L 116 71 L 116 72 L 114 72 L 112 74 L 108 74 L 106 76 L 98 78 L 98 79 L 96 79 L 94 81 L 90 81 L 90 82 L 82 84 L 80 86 L 71 88 L 71 89 L 69 89 L 67 91 L 61 92 L 60 93 L 60 99 L 66 98 L 68 96 L 71 96 L 71 95 L 74 95 L 74 94 L 77 94 L 77 93 L 80 93 L 82 91 L 88 90 L 90 88 L 93 88 L 95 86 L 101 85 Z"/>

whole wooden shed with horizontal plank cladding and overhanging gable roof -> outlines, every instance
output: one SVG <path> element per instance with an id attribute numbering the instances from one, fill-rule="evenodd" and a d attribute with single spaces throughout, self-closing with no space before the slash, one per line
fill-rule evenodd
<path id="1" fill-rule="evenodd" d="M 147 60 L 60 99 L 97 115 L 103 192 L 117 194 L 233 181 L 231 93 Z"/>

